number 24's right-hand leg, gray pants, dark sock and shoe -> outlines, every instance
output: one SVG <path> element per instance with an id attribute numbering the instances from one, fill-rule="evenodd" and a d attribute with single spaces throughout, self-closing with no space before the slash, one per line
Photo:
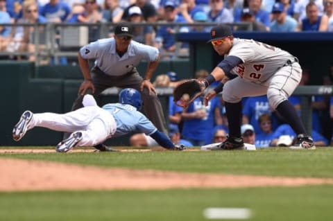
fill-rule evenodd
<path id="1" fill-rule="evenodd" d="M 298 116 L 295 107 L 289 102 L 288 98 L 298 86 L 302 78 L 302 69 L 295 62 L 290 66 L 282 67 L 268 81 L 267 97 L 268 101 L 276 111 L 289 123 L 293 131 L 298 135 L 298 148 L 314 149 L 314 142 L 305 130 L 300 116 Z"/>

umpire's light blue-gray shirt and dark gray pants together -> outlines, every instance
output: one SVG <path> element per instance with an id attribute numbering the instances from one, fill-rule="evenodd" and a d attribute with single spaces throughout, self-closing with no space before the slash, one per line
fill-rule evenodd
<path id="1" fill-rule="evenodd" d="M 157 48 L 131 41 L 128 51 L 121 57 L 116 52 L 114 38 L 99 39 L 80 48 L 80 55 L 83 59 L 94 59 L 95 65 L 91 70 L 92 82 L 95 93 L 98 96 L 109 87 L 134 88 L 139 91 L 142 77 L 135 68 L 139 62 L 146 60 L 154 62 L 157 60 L 159 51 Z M 90 90 L 86 94 L 92 94 Z M 82 107 L 83 96 L 78 96 L 72 110 Z M 142 91 L 144 112 L 153 122 L 158 130 L 167 134 L 166 122 L 160 100 L 155 94 L 148 94 L 148 89 Z"/>

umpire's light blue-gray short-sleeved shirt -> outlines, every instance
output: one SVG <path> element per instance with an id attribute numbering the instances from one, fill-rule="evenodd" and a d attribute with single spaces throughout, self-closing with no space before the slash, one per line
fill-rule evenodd
<path id="1" fill-rule="evenodd" d="M 127 52 L 120 58 L 114 38 L 99 39 L 80 48 L 82 58 L 95 59 L 96 67 L 109 76 L 123 76 L 142 60 L 155 62 L 158 54 L 157 48 L 131 40 Z"/>

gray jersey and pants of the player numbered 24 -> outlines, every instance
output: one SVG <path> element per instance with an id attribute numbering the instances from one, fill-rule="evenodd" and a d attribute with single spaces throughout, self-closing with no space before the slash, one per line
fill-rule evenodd
<path id="1" fill-rule="evenodd" d="M 288 99 L 302 78 L 297 58 L 253 39 L 234 38 L 228 55 L 243 61 L 230 71 L 240 78 L 229 80 L 223 88 L 223 100 L 229 103 L 237 103 L 247 96 L 267 94 L 271 107 L 275 109 Z"/>

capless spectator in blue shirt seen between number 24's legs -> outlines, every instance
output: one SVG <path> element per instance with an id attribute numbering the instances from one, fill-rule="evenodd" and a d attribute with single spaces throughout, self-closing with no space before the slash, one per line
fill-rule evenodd
<path id="1" fill-rule="evenodd" d="M 269 148 L 273 139 L 273 129 L 270 114 L 262 114 L 259 116 L 259 125 L 262 129 L 262 133 L 256 134 L 255 136 L 255 147 L 256 148 Z"/>

